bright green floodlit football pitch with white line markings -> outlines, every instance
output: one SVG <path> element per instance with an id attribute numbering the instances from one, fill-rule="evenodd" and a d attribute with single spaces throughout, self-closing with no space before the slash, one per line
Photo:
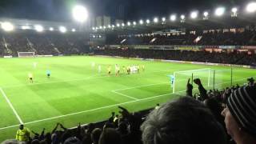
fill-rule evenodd
<path id="1" fill-rule="evenodd" d="M 92 63 L 95 66 L 92 66 Z M 36 66 L 34 66 L 36 63 Z M 121 74 L 114 75 L 114 65 L 121 66 Z M 98 73 L 101 65 L 101 73 Z M 107 66 L 112 66 L 109 76 Z M 140 74 L 123 74 L 122 66 L 140 65 Z M 142 66 L 145 71 L 142 71 Z M 53 57 L 0 59 L 0 142 L 14 138 L 18 124 L 24 122 L 30 130 L 50 131 L 57 122 L 66 127 L 105 120 L 117 106 L 130 111 L 154 107 L 178 97 L 171 94 L 170 78 L 174 71 L 216 70 L 216 86 L 230 86 L 230 67 L 202 66 L 170 62 L 150 62 L 124 58 Z M 46 77 L 46 70 L 51 77 Z M 34 75 L 29 83 L 28 74 Z M 234 84 L 246 83 L 255 70 L 234 68 Z M 200 77 L 197 75 L 196 77 Z M 203 77 L 203 76 L 202 76 Z M 190 74 L 175 79 L 180 94 L 186 90 Z M 207 86 L 206 86 L 207 88 Z M 196 90 L 196 86 L 194 86 Z M 182 92 L 183 91 L 183 92 Z"/>

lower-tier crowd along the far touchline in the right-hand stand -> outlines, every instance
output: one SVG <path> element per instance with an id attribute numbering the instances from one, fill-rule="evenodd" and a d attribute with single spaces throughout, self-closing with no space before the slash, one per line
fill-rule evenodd
<path id="1" fill-rule="evenodd" d="M 121 56 L 128 58 L 155 58 L 170 59 L 190 62 L 214 62 L 225 64 L 238 64 L 254 66 L 256 63 L 256 54 L 247 54 L 245 52 L 207 52 L 192 50 L 138 50 L 138 49 L 105 49 L 94 50 L 94 54 Z"/>

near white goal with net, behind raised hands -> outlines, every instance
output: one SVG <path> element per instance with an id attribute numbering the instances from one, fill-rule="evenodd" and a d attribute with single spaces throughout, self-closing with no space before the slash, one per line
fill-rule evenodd
<path id="1" fill-rule="evenodd" d="M 193 80 L 195 78 L 200 78 L 201 82 L 207 88 L 211 88 L 210 82 L 213 82 L 214 70 L 210 68 L 198 69 L 198 70 L 183 70 L 174 72 L 174 82 L 173 82 L 173 94 L 178 92 L 186 91 L 186 83 L 190 78 L 190 83 L 193 85 Z"/>

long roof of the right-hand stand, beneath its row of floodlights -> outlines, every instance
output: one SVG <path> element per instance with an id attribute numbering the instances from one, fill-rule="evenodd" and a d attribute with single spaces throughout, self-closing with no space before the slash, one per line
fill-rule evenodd
<path id="1" fill-rule="evenodd" d="M 143 25 L 137 24 L 136 26 L 115 26 L 110 29 L 101 29 L 95 30 L 95 33 L 114 33 L 118 34 L 140 34 L 140 33 L 152 33 L 154 31 L 165 31 L 165 30 L 217 30 L 217 29 L 228 29 L 228 28 L 241 28 L 246 26 L 256 26 L 256 18 L 250 15 L 243 15 L 240 17 L 222 17 L 222 18 L 209 18 L 207 20 L 204 19 L 186 19 L 185 22 L 181 22 L 178 19 L 175 22 L 171 22 L 170 20 L 166 20 L 166 22 L 154 23 L 150 22 L 150 24 L 146 24 L 143 22 Z M 138 22 L 139 23 L 139 22 Z"/>

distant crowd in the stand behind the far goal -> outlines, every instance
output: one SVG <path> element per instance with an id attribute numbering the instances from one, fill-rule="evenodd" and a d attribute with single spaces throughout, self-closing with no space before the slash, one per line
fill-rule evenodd
<path id="1" fill-rule="evenodd" d="M 18 52 L 35 52 L 38 55 L 82 54 L 89 52 L 89 43 L 89 36 L 80 33 L 0 33 L 0 55 L 17 56 Z"/>

